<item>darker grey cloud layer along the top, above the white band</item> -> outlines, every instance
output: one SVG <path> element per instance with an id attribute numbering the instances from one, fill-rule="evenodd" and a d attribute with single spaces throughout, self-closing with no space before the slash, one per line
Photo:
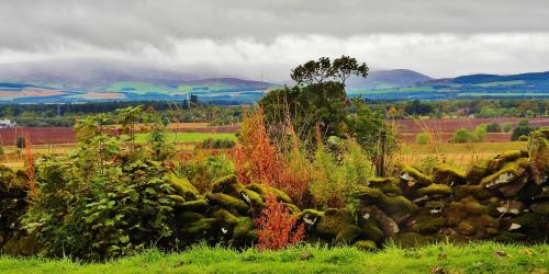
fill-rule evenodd
<path id="1" fill-rule="evenodd" d="M 549 31 L 545 0 L 2 0 L 0 48 L 59 39 L 108 48 L 283 34 Z"/>

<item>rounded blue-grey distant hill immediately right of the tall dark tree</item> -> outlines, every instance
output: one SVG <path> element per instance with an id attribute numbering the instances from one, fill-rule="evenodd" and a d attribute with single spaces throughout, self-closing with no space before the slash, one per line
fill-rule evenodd
<path id="1" fill-rule="evenodd" d="M 349 90 L 389 89 L 408 87 L 433 80 L 433 78 L 410 69 L 370 71 L 367 78 L 351 78 L 347 82 Z"/>

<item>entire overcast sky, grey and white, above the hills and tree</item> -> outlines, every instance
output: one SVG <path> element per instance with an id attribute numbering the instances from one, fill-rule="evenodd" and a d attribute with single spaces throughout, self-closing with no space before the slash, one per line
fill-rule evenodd
<path id="1" fill-rule="evenodd" d="M 432 77 L 549 70 L 547 0 L 1 0 L 0 65 L 116 60 L 284 81 L 321 56 Z"/>

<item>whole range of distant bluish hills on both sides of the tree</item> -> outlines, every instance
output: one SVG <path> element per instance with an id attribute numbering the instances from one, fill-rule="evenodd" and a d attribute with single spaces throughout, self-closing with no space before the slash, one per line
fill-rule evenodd
<path id="1" fill-rule="evenodd" d="M 194 94 L 214 104 L 251 104 L 279 87 L 113 60 L 23 62 L 0 69 L 0 103 L 182 101 Z M 549 71 L 433 79 L 408 69 L 376 70 L 366 79 L 350 78 L 347 92 L 370 100 L 549 98 Z"/>

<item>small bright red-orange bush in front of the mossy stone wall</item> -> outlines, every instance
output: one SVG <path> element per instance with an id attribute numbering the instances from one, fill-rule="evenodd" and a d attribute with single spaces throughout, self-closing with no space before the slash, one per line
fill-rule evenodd
<path id="1" fill-rule="evenodd" d="M 258 249 L 280 250 L 300 242 L 305 230 L 303 224 L 296 224 L 298 216 L 291 215 L 272 195 L 268 195 L 266 202 L 261 216 L 255 221 L 258 228 Z"/>

